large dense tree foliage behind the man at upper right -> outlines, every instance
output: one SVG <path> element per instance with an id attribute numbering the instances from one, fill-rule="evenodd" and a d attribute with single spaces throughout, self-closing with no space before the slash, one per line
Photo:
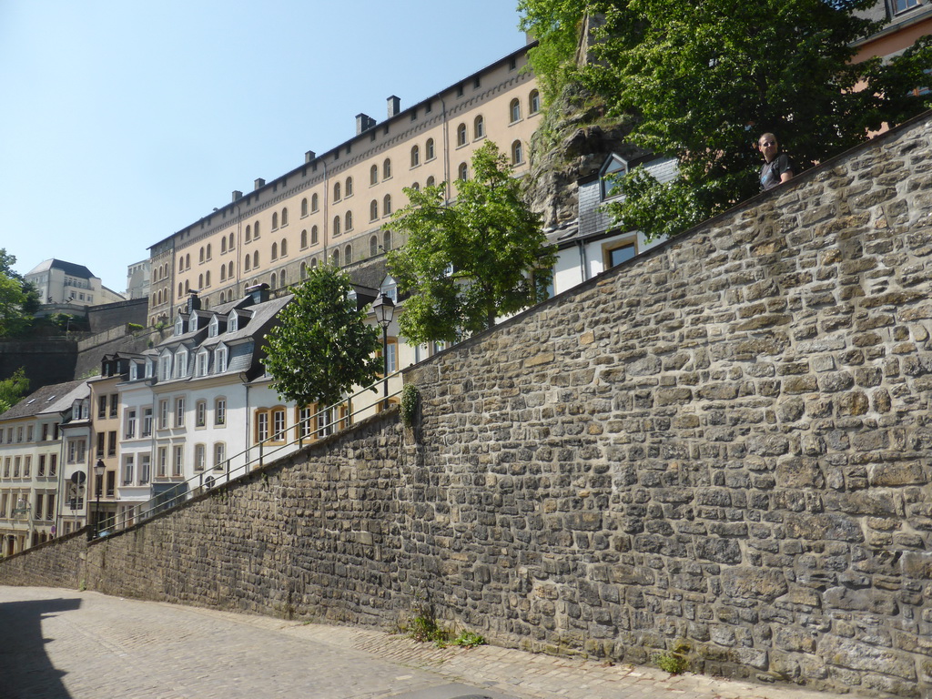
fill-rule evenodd
<path id="1" fill-rule="evenodd" d="M 524 0 L 537 12 L 530 31 L 547 29 L 535 18 L 554 2 Z M 882 28 L 855 14 L 874 0 L 565 2 L 604 20 L 583 82 L 614 115 L 635 117 L 632 143 L 678 158 L 678 181 L 642 172 L 612 208 L 651 237 L 755 194 L 761 132 L 776 133 L 801 171 L 927 108 L 913 92 L 932 68 L 929 37 L 888 62 L 852 62 L 857 39 Z"/>

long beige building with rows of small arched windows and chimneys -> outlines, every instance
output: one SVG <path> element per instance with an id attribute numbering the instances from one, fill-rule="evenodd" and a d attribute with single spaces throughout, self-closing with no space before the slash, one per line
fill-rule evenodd
<path id="1" fill-rule="evenodd" d="M 521 48 L 406 109 L 390 97 L 385 120 L 357 115 L 349 141 L 308 151 L 295 170 L 233 192 L 223 208 L 153 245 L 149 322 L 172 322 L 192 290 L 210 307 L 257 283 L 274 292 L 324 259 L 345 267 L 400 245 L 382 226 L 406 203 L 404 187 L 471 176 L 473 151 L 487 139 L 525 171 L 541 111 L 526 54 Z"/>

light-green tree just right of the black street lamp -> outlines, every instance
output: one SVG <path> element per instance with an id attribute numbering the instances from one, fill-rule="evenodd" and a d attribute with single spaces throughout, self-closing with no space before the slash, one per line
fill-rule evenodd
<path id="1" fill-rule="evenodd" d="M 473 179 L 457 181 L 456 201 L 445 203 L 445 183 L 405 189 L 408 204 L 387 226 L 407 237 L 388 266 L 399 291 L 411 294 L 399 327 L 415 344 L 459 340 L 546 298 L 555 252 L 540 216 L 494 143 L 478 148 L 472 163 Z"/>

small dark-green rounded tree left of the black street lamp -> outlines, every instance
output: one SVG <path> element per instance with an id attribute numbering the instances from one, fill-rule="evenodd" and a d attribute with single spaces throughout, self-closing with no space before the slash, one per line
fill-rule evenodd
<path id="1" fill-rule="evenodd" d="M 349 277 L 315 267 L 266 335 L 264 360 L 279 396 L 299 405 L 337 403 L 353 385 L 368 386 L 381 371 L 378 330 L 349 297 Z"/>

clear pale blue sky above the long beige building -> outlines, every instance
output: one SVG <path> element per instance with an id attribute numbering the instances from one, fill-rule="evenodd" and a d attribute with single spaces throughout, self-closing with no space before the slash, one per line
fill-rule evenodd
<path id="1" fill-rule="evenodd" d="M 516 0 L 0 0 L 0 248 L 148 246 L 524 46 Z"/>

